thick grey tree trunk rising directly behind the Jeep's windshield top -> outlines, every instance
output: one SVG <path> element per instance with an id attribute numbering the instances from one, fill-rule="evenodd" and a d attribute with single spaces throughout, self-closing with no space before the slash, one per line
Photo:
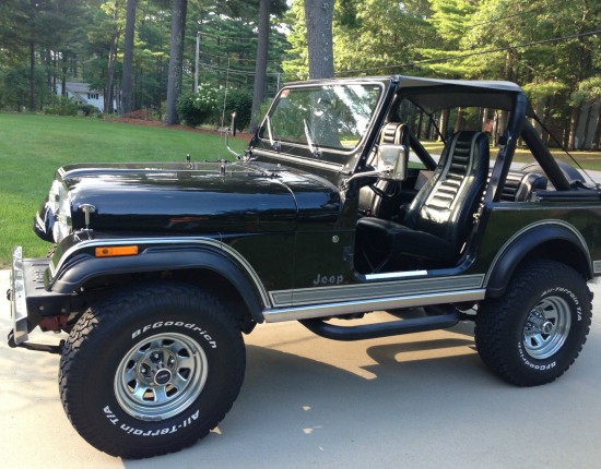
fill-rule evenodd
<path id="1" fill-rule="evenodd" d="M 309 79 L 331 79 L 334 75 L 333 11 L 333 0 L 305 0 Z"/>

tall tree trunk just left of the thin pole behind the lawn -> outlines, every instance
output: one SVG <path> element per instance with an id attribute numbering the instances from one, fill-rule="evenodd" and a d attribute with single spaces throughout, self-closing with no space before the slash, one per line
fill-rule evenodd
<path id="1" fill-rule="evenodd" d="M 181 69 L 184 64 L 184 37 L 186 34 L 186 11 L 188 0 L 173 1 L 172 15 L 172 51 L 167 77 L 167 111 L 165 122 L 168 125 L 179 123 L 177 101 L 181 94 Z"/>

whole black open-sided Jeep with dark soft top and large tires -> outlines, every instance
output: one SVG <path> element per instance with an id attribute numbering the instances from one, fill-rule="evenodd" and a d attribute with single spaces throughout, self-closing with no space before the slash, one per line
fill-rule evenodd
<path id="1" fill-rule="evenodd" d="M 438 157 L 421 141 L 440 112 L 457 132 Z M 64 409 L 125 457 L 214 428 L 241 385 L 241 333 L 263 322 L 355 340 L 475 321 L 496 374 L 553 381 L 589 330 L 601 197 L 532 117 L 507 82 L 293 83 L 234 163 L 60 168 L 35 220 L 51 256 L 14 253 L 9 342 L 68 332 L 50 348 Z M 518 141 L 534 160 L 521 170 Z M 402 318 L 328 322 L 377 310 Z"/>

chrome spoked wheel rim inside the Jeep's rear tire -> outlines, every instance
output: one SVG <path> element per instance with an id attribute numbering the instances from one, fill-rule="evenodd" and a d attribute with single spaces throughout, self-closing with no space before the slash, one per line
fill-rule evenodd
<path id="1" fill-rule="evenodd" d="M 553 356 L 565 344 L 570 326 L 571 314 L 566 300 L 544 298 L 530 311 L 523 324 L 526 352 L 537 360 Z"/>

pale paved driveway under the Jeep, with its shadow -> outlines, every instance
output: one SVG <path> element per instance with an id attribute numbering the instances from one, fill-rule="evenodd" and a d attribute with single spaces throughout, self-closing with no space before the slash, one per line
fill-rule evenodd
<path id="1" fill-rule="evenodd" d="M 2 292 L 8 277 L 0 272 Z M 601 286 L 591 288 L 593 324 L 581 356 L 558 381 L 534 388 L 517 388 L 488 373 L 464 325 L 358 342 L 327 340 L 297 323 L 261 325 L 246 338 L 245 384 L 222 424 L 188 449 L 143 461 L 98 453 L 75 433 L 58 396 L 58 356 L 8 348 L 11 323 L 2 298 L 1 465 L 600 467 Z"/>

